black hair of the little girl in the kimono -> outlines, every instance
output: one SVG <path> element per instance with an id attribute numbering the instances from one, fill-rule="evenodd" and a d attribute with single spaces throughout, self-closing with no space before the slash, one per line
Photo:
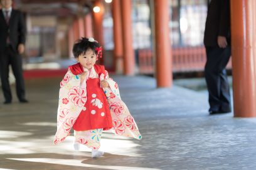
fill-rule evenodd
<path id="1" fill-rule="evenodd" d="M 73 45 L 73 55 L 78 58 L 81 54 L 85 54 L 88 49 L 92 49 L 93 53 L 98 56 L 96 47 L 100 47 L 99 42 L 95 40 L 91 42 L 87 37 L 81 37 Z"/>

